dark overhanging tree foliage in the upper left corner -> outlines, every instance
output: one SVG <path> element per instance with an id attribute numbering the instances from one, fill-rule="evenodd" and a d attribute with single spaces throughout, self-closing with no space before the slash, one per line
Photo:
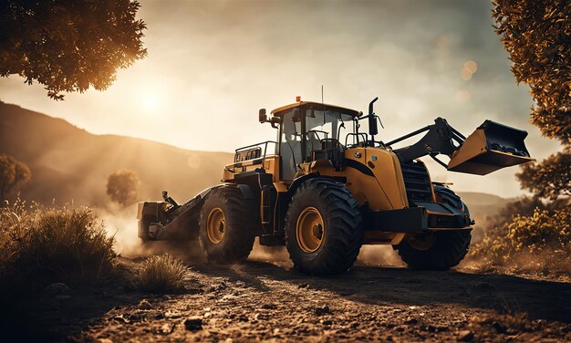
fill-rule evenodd
<path id="1" fill-rule="evenodd" d="M 108 88 L 118 68 L 145 57 L 132 0 L 0 1 L 0 76 L 61 92 Z"/>

